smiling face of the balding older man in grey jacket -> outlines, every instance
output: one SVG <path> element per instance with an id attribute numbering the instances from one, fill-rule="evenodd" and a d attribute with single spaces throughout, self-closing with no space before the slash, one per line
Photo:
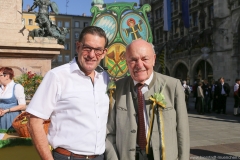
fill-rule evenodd
<path id="1" fill-rule="evenodd" d="M 152 74 L 156 55 L 150 43 L 144 40 L 133 41 L 126 50 L 126 62 L 131 77 L 144 83 Z"/>

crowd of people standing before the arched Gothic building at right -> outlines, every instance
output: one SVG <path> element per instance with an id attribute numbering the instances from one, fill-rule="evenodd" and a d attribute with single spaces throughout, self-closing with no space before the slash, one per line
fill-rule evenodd
<path id="1" fill-rule="evenodd" d="M 238 115 L 238 108 L 240 106 L 240 79 L 235 80 L 234 85 L 234 110 L 233 114 Z M 185 100 L 188 106 L 188 98 L 190 87 L 183 81 L 185 92 Z M 212 80 L 210 83 L 207 79 L 203 81 L 195 81 L 192 87 L 193 96 L 195 98 L 195 109 L 199 114 L 216 112 L 218 114 L 226 114 L 227 97 L 230 94 L 230 86 L 225 82 L 224 77 L 217 81 Z M 190 91 L 191 92 L 191 91 Z"/>

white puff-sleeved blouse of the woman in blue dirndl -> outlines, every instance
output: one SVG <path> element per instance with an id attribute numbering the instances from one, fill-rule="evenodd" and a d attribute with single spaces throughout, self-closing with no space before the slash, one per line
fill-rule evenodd
<path id="1" fill-rule="evenodd" d="M 15 83 L 12 80 L 10 83 L 8 83 L 4 89 L 4 86 L 2 85 L 0 88 L 0 99 L 8 99 L 13 96 L 13 87 Z M 16 84 L 15 90 L 14 90 L 14 95 L 18 100 L 19 105 L 25 105 L 26 100 L 25 100 L 25 94 L 24 94 L 24 88 L 21 84 Z"/>

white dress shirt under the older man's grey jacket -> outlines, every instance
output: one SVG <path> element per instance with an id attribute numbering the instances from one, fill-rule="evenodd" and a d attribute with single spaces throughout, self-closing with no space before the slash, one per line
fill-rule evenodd
<path id="1" fill-rule="evenodd" d="M 142 87 L 141 91 L 142 94 L 144 96 L 144 93 L 146 93 L 147 91 L 149 91 L 149 84 L 151 83 L 153 79 L 153 73 L 151 74 L 151 76 L 144 82 L 144 86 Z M 138 84 L 139 82 L 133 80 L 134 86 L 136 86 L 136 84 Z M 149 127 L 149 120 L 148 120 L 148 116 L 147 116 L 147 110 L 146 110 L 146 105 L 144 104 L 144 123 L 145 123 L 145 132 L 146 132 L 146 137 L 148 134 L 148 127 Z"/>

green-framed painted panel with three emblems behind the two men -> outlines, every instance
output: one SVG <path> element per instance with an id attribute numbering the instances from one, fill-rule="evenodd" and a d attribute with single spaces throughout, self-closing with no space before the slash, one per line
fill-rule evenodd
<path id="1" fill-rule="evenodd" d="M 108 37 L 108 53 L 103 64 L 113 78 L 122 78 L 128 73 L 124 57 L 128 44 L 140 38 L 151 43 L 153 40 L 146 14 L 151 10 L 150 5 L 136 6 L 134 2 L 117 2 L 104 4 L 101 9 L 91 8 L 91 25 L 104 29 Z"/>

